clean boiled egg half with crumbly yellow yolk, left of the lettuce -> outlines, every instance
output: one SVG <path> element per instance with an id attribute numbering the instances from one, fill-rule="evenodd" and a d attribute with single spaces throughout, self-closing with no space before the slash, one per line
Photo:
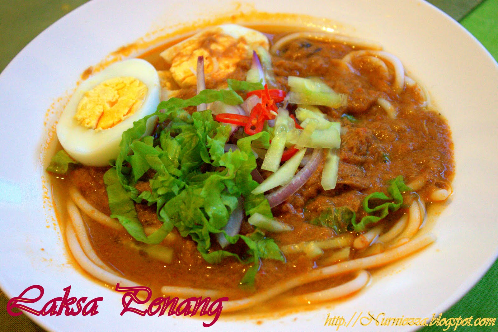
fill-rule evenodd
<path id="1" fill-rule="evenodd" d="M 159 76 L 150 63 L 114 63 L 76 89 L 57 124 L 59 142 L 83 165 L 107 166 L 119 155 L 123 132 L 154 113 L 159 99 Z M 154 124 L 154 117 L 147 121 L 145 135 Z"/>

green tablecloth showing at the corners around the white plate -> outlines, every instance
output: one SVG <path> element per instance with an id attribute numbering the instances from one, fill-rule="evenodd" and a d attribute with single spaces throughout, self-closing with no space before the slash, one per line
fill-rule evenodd
<path id="1" fill-rule="evenodd" d="M 0 1 L 0 71 L 10 62 L 22 47 L 59 17 L 73 10 L 87 0 L 2 0 Z M 485 0 L 471 12 L 469 5 L 479 0 L 430 0 L 458 19 L 498 60 L 498 0 Z M 451 278 L 451 276 L 449 276 Z M 5 310 L 7 300 L 0 291 L 0 332 L 43 331 L 25 315 L 10 317 Z M 498 316 L 498 261 L 481 281 L 443 317 L 492 317 Z M 444 327 L 422 329 L 442 331 Z M 469 331 L 460 327 L 458 331 Z M 494 327 L 472 329 L 472 331 L 498 331 Z"/>

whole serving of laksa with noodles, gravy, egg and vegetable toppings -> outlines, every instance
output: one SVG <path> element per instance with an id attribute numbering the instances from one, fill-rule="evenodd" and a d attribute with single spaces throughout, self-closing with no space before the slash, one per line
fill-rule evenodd
<path id="1" fill-rule="evenodd" d="M 159 296 L 342 298 L 426 247 L 452 193 L 447 122 L 377 43 L 236 24 L 76 90 L 48 171 L 76 262 Z M 64 213 L 63 213 L 64 214 Z"/>

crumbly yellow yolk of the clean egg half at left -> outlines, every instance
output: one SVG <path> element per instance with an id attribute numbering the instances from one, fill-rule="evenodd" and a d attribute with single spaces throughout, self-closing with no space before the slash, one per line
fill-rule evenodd
<path id="1" fill-rule="evenodd" d="M 89 129 L 112 128 L 140 109 L 146 94 L 147 86 L 134 77 L 108 79 L 85 93 L 75 118 Z"/>

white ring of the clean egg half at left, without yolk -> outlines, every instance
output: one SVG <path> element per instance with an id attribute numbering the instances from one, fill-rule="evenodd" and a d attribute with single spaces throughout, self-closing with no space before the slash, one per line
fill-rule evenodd
<path id="1" fill-rule="evenodd" d="M 75 119 L 78 103 L 84 94 L 98 84 L 114 78 L 131 76 L 147 86 L 142 106 L 135 113 L 116 126 L 96 131 L 86 128 Z M 74 160 L 86 166 L 107 166 L 109 160 L 116 159 L 120 152 L 121 136 L 133 126 L 133 122 L 155 112 L 160 99 L 159 76 L 155 68 L 145 60 L 129 59 L 110 65 L 76 89 L 66 105 L 57 124 L 57 137 L 64 150 Z M 147 121 L 145 135 L 154 129 L 155 118 Z"/>

